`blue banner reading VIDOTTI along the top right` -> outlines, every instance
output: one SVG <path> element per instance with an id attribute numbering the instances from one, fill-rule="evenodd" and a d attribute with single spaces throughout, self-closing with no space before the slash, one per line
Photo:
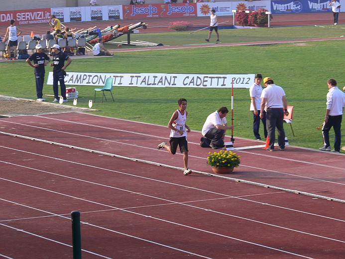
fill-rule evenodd
<path id="1" fill-rule="evenodd" d="M 330 12 L 329 1 L 325 0 L 279 0 L 271 1 L 271 12 L 274 13 L 310 13 Z"/>

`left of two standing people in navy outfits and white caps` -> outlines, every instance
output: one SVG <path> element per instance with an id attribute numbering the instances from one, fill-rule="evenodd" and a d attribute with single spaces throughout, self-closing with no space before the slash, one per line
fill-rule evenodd
<path id="1" fill-rule="evenodd" d="M 38 102 L 45 101 L 45 99 L 43 98 L 43 83 L 45 75 L 44 66 L 46 66 L 49 63 L 49 60 L 50 58 L 47 56 L 47 54 L 42 52 L 42 46 L 40 44 L 36 45 L 36 52 L 26 59 L 26 63 L 28 63 L 31 67 L 34 68 L 37 94 L 36 101 Z M 33 61 L 33 64 L 31 63 L 31 61 Z"/>

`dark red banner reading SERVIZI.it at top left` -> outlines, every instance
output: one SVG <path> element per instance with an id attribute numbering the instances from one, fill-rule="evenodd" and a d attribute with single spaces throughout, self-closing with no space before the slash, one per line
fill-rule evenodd
<path id="1" fill-rule="evenodd" d="M 50 8 L 0 11 L 0 26 L 9 26 L 12 19 L 17 26 L 50 22 Z"/>

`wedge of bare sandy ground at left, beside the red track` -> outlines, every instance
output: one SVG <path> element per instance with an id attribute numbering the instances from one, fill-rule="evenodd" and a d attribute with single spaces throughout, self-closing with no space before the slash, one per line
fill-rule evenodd
<path id="1" fill-rule="evenodd" d="M 0 95 L 0 118 L 90 111 L 96 110 Z"/>

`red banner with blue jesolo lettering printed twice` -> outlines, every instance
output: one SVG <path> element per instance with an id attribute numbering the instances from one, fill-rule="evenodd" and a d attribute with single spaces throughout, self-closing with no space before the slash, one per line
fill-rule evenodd
<path id="1" fill-rule="evenodd" d="M 123 19 L 197 16 L 196 3 L 122 5 Z"/>

